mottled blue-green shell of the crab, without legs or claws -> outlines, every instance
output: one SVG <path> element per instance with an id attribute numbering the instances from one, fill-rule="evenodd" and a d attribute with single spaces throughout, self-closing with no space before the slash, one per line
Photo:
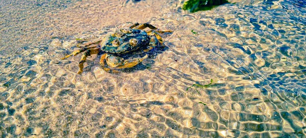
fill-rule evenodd
<path id="1" fill-rule="evenodd" d="M 149 45 L 149 41 L 149 36 L 143 30 L 118 29 L 114 34 L 107 35 L 100 45 L 102 51 L 123 54 L 146 48 Z"/>

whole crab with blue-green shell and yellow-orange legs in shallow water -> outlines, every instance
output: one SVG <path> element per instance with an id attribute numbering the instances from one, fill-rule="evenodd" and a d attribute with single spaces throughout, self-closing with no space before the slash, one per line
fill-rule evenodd
<path id="1" fill-rule="evenodd" d="M 151 30 L 144 31 L 149 28 Z M 84 63 L 88 56 L 92 54 L 103 53 L 100 58 L 100 65 L 105 71 L 116 71 L 120 68 L 129 68 L 136 66 L 148 57 L 146 54 L 141 58 L 124 59 L 124 54 L 135 54 L 135 51 L 148 52 L 158 45 L 163 44 L 163 39 L 158 33 L 173 32 L 171 30 L 159 30 L 150 24 L 138 24 L 137 22 L 129 28 L 117 29 L 113 34 L 107 35 L 103 40 L 87 42 L 79 46 L 81 49 L 73 51 L 71 54 L 61 58 L 66 59 L 70 56 L 76 56 L 80 53 L 84 54 L 79 62 L 80 70 L 78 74 L 83 72 Z M 106 67 L 105 61 L 108 65 Z"/>

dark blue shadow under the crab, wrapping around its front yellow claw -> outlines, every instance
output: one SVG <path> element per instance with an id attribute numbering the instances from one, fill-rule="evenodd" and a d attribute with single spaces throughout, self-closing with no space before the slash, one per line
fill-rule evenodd
<path id="1" fill-rule="evenodd" d="M 144 71 L 146 69 L 149 69 L 151 65 L 155 64 L 155 61 L 152 59 L 155 59 L 159 54 L 162 54 L 164 51 L 167 51 L 169 47 L 166 45 L 162 45 L 159 47 L 156 47 L 148 52 L 133 52 L 133 53 L 127 53 L 127 54 L 122 54 L 120 57 L 124 59 L 135 59 L 135 58 L 141 58 L 144 57 L 145 55 L 148 56 L 144 62 L 141 62 L 137 64 L 136 66 L 130 67 L 130 68 L 122 68 L 122 69 L 116 69 L 119 72 L 123 73 L 134 73 L 137 71 Z"/>

